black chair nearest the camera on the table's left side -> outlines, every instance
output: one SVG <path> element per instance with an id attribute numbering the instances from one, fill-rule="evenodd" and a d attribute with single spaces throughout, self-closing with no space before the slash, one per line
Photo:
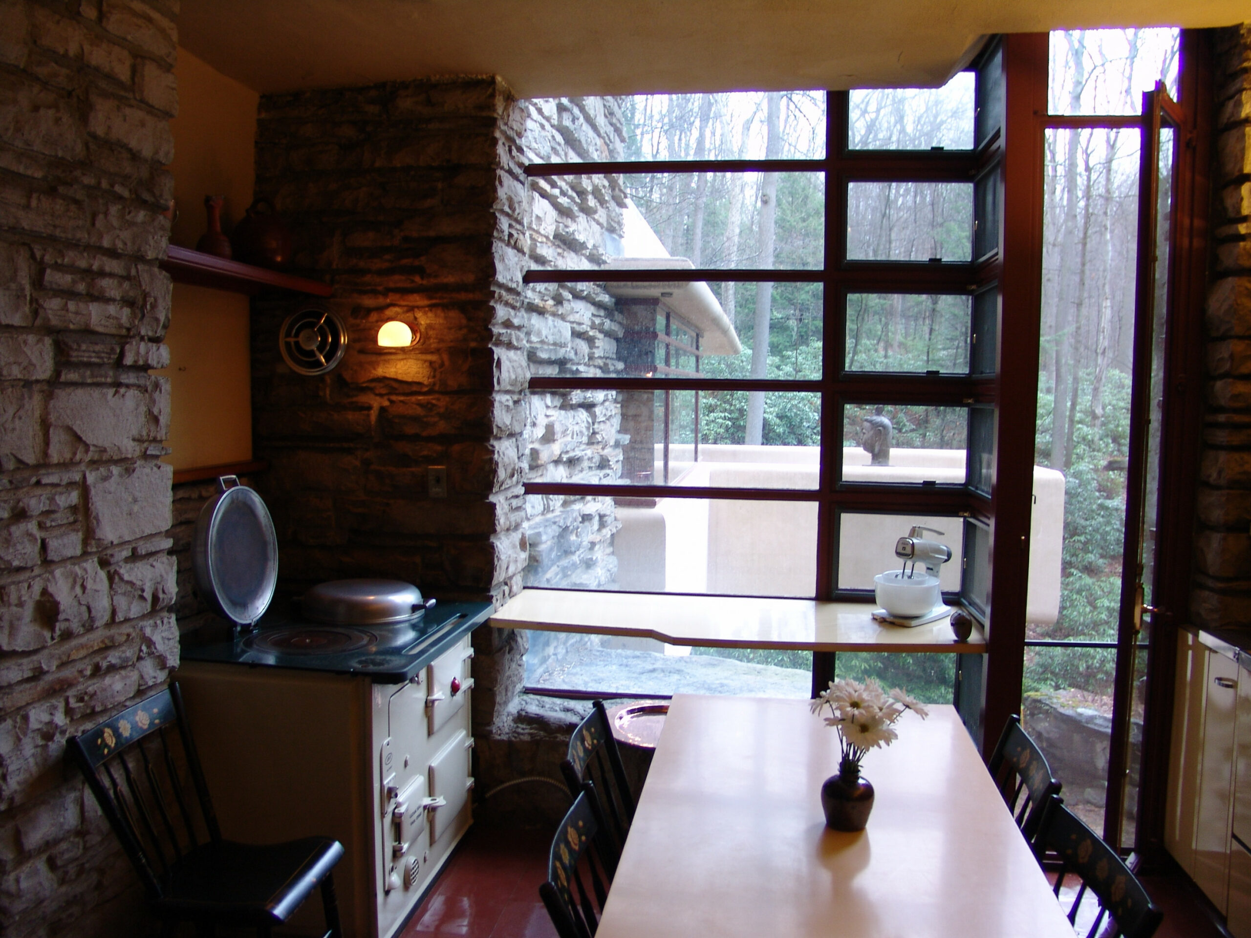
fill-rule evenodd
<path id="1" fill-rule="evenodd" d="M 593 938 L 599 925 L 608 900 L 605 884 L 610 882 L 602 852 L 602 825 L 593 790 L 582 790 L 552 840 L 548 878 L 539 887 L 539 897 L 559 938 Z"/>

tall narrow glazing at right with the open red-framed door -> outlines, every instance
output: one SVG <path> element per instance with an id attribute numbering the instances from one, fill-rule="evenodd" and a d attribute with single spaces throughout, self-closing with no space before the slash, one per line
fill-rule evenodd
<path id="1" fill-rule="evenodd" d="M 1066 779 L 1066 793 L 1072 788 L 1073 794 L 1066 795 L 1070 807 L 1103 829 L 1110 842 L 1126 844 L 1135 834 L 1150 632 L 1148 617 L 1137 650 L 1118 664 L 1143 140 L 1138 115 L 1142 93 L 1157 80 L 1176 95 L 1178 39 L 1173 29 L 1053 33 L 1043 130 L 1035 472 L 1048 494 L 1046 504 L 1035 505 L 1033 523 L 1058 519 L 1063 539 L 1058 579 L 1047 600 L 1037 594 L 1028 599 L 1022 719 L 1053 770 Z M 1171 140 L 1166 126 L 1157 168 L 1162 219 L 1157 275 L 1168 268 Z M 1160 306 L 1162 311 L 1162 301 Z M 1158 355 L 1162 323 L 1155 341 Z M 1158 383 L 1158 360 L 1151 373 Z M 1161 401 L 1158 388 L 1152 398 Z M 1158 416 L 1151 419 L 1156 440 Z M 1150 577 L 1145 580 L 1150 589 Z M 1133 687 L 1125 714 L 1113 708 L 1118 670 Z M 1122 718 L 1128 734 L 1123 802 L 1108 777 L 1115 770 L 1108 752 L 1117 745 L 1112 727 Z M 1076 748 L 1098 753 L 1096 758 L 1072 758 L 1075 740 L 1080 740 Z M 1123 832 L 1116 818 L 1105 815 L 1106 805 L 1123 809 Z"/>

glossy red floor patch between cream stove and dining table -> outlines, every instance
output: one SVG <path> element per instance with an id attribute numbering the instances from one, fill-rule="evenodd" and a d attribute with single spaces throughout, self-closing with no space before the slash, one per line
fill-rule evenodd
<path id="1" fill-rule="evenodd" d="M 400 938 L 555 938 L 539 899 L 550 830 L 474 824 Z"/>

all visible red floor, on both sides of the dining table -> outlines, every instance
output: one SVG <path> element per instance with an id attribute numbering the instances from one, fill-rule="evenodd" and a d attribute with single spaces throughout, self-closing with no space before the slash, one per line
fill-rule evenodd
<path id="1" fill-rule="evenodd" d="M 555 938 L 539 900 L 550 844 L 550 832 L 475 824 L 400 938 Z M 1155 938 L 1226 938 L 1212 923 L 1210 904 L 1183 874 L 1143 877 L 1142 884 L 1165 913 Z M 1062 895 L 1071 902 L 1065 885 Z M 1088 920 L 1085 924 L 1088 928 Z"/>

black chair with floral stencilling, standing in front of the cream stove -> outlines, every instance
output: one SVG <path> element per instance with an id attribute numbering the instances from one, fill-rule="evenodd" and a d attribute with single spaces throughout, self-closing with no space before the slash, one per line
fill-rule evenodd
<path id="1" fill-rule="evenodd" d="M 343 845 L 327 837 L 254 847 L 221 839 L 178 684 L 68 743 L 148 890 L 161 934 L 194 922 L 269 935 L 320 884 L 325 938 L 340 938 L 330 870 Z"/>

